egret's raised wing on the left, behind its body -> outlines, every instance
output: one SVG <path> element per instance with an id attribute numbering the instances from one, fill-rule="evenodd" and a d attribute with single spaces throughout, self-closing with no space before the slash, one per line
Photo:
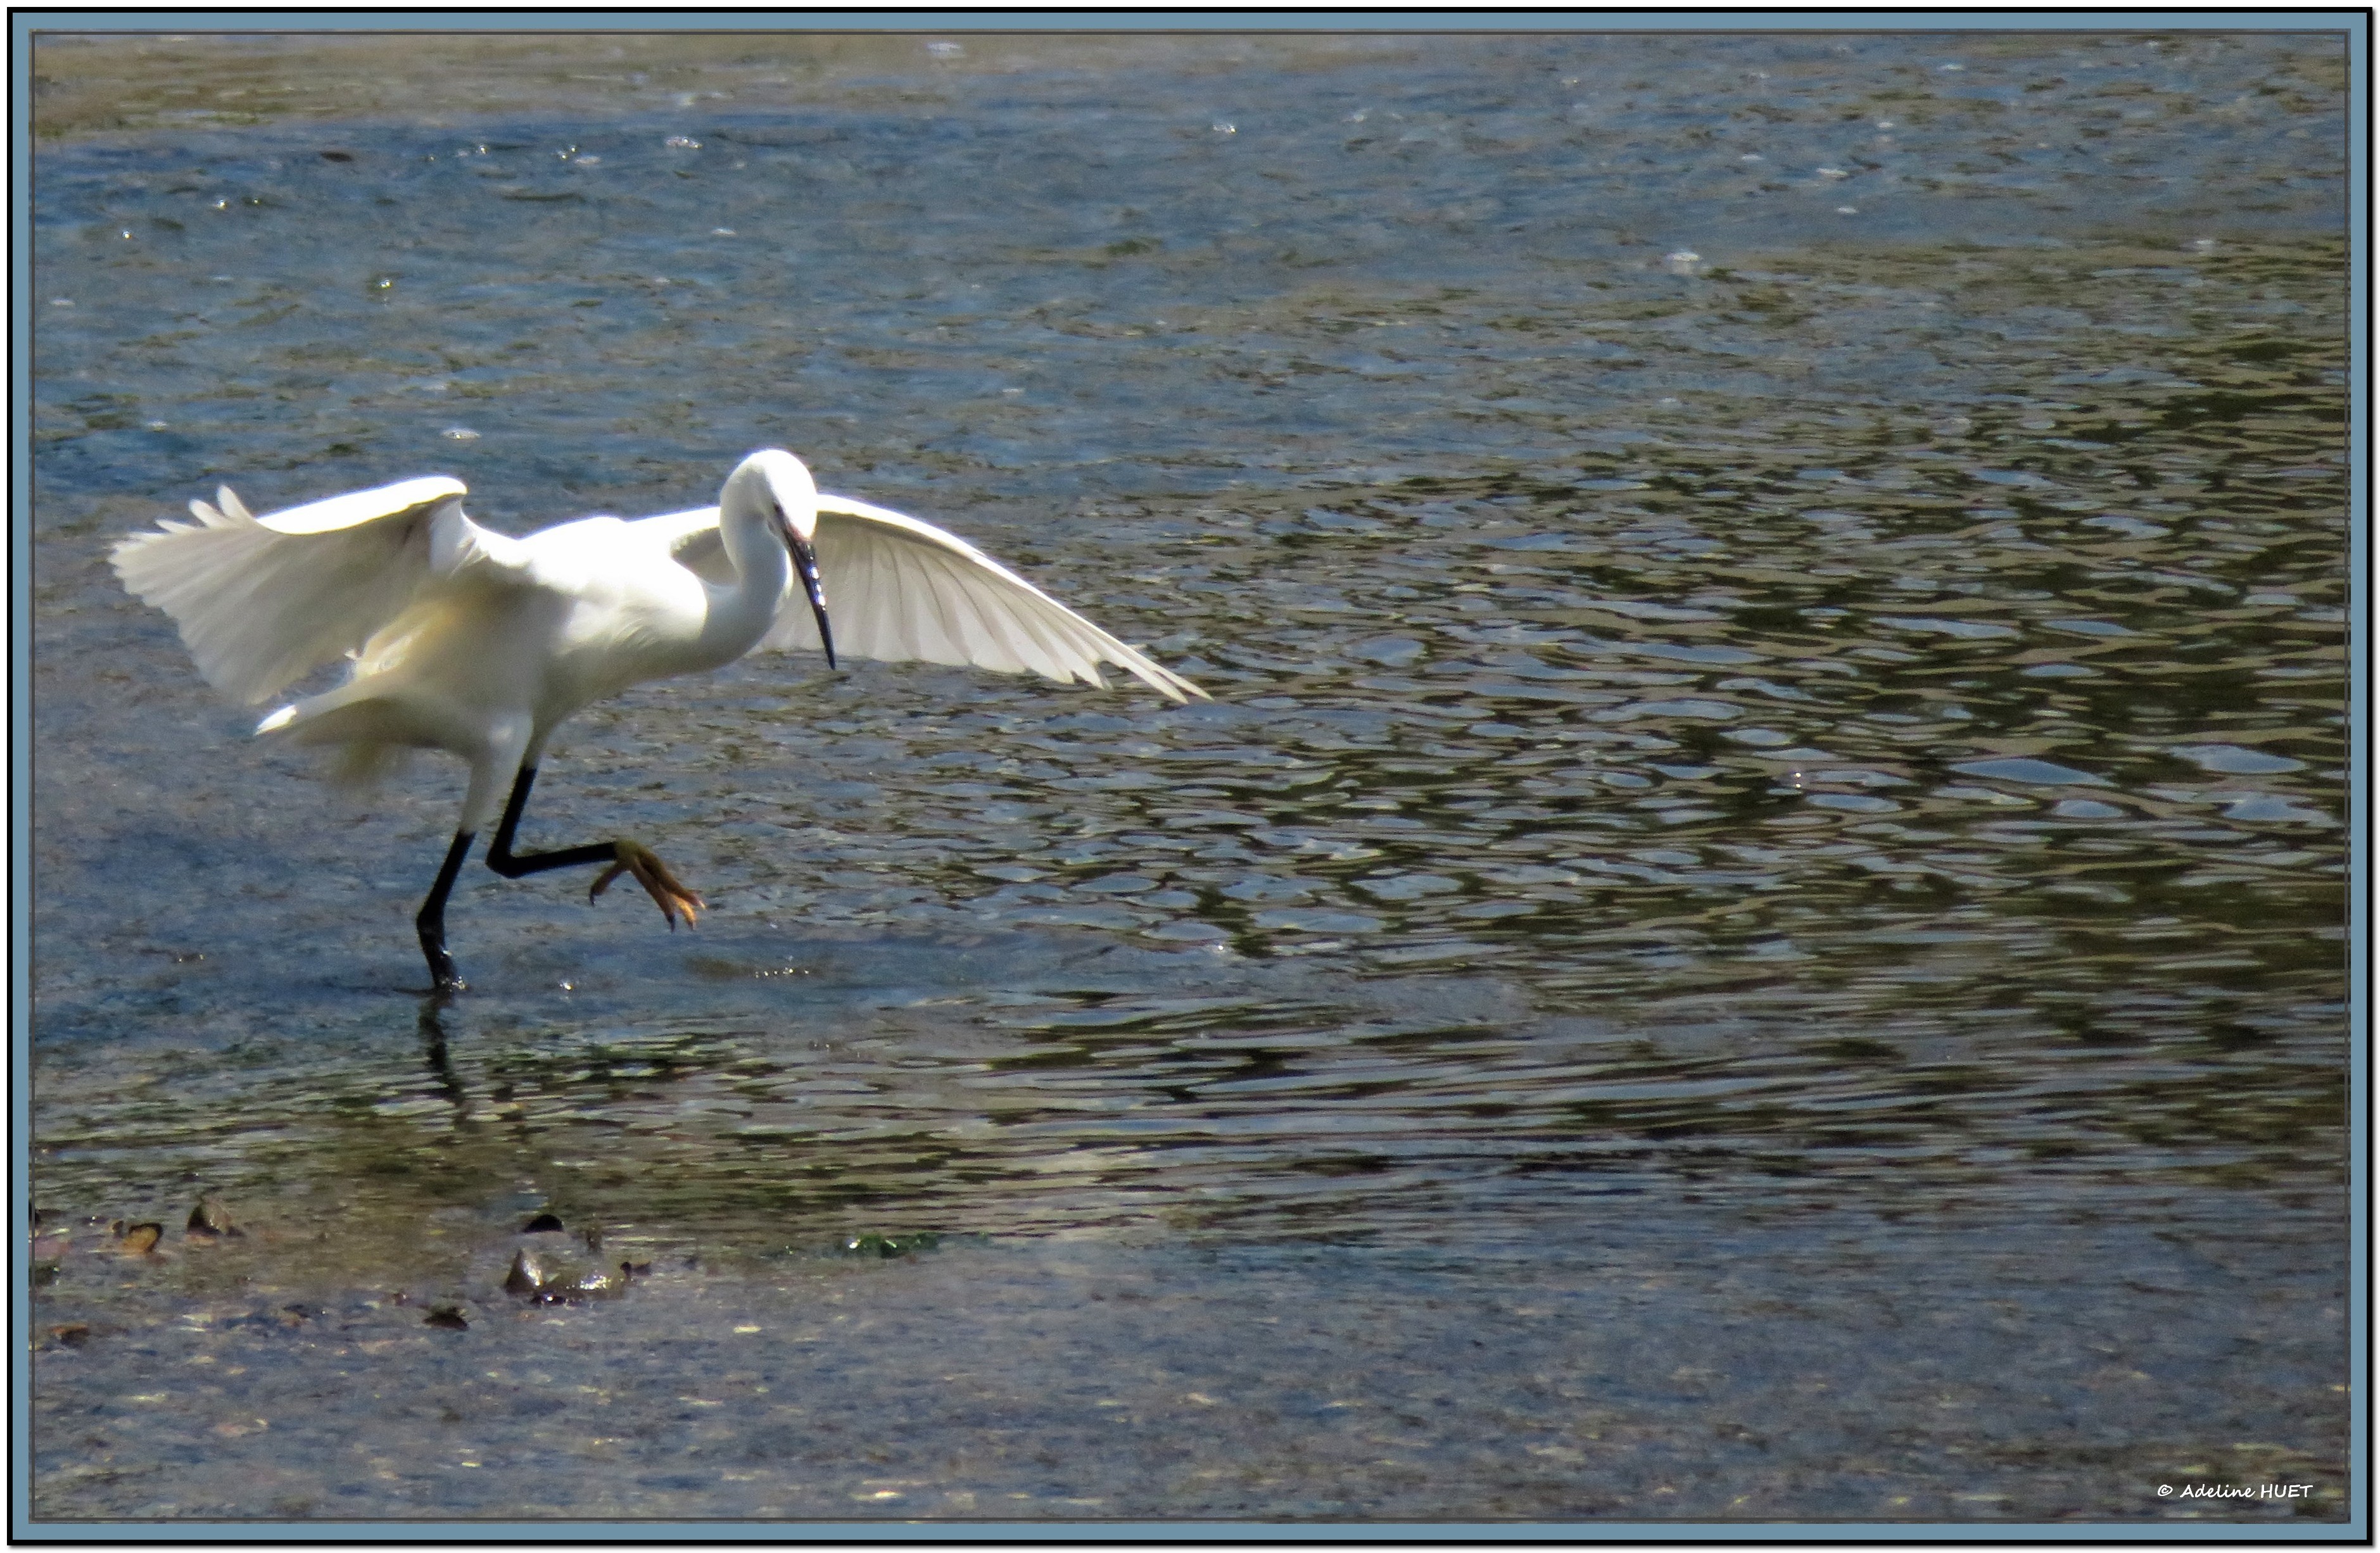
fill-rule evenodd
<path id="1" fill-rule="evenodd" d="M 174 616 L 207 683 L 262 702 L 355 652 L 440 578 L 519 573 L 521 542 L 464 516 L 462 480 L 428 476 L 252 516 L 231 488 L 198 523 L 119 540 L 124 587 Z"/>

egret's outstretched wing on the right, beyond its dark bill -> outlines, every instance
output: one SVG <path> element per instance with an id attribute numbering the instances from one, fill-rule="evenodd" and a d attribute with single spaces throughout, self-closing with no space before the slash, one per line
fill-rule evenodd
<path id="1" fill-rule="evenodd" d="M 835 652 L 1033 671 L 1059 685 L 1102 687 L 1100 664 L 1114 664 L 1166 699 L 1207 699 L 1183 675 L 933 523 L 821 492 L 816 549 Z M 819 623 L 800 590 L 785 592 L 762 645 L 819 649 Z"/>

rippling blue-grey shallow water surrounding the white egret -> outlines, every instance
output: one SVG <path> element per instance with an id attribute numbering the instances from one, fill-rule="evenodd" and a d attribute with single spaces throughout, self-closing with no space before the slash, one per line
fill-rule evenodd
<path id="1" fill-rule="evenodd" d="M 2332 43 L 205 48 L 36 57 L 43 1515 L 2344 1513 Z M 105 568 L 771 442 L 1216 702 L 643 687 L 716 911 L 436 1011 Z"/>

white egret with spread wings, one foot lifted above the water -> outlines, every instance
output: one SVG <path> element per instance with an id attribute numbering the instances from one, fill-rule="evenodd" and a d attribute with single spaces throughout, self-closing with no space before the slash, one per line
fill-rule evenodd
<path id="1" fill-rule="evenodd" d="M 788 452 L 735 466 L 719 507 L 624 523 L 578 518 L 526 540 L 464 516 L 462 480 L 428 476 L 250 516 L 231 490 L 114 547 L 117 576 L 174 616 L 217 690 L 262 702 L 347 654 L 338 690 L 283 706 L 257 733 L 336 744 L 367 782 L 405 749 L 471 763 L 462 823 L 414 925 L 440 989 L 462 987 L 445 901 L 471 837 L 497 811 L 488 866 L 505 878 L 605 863 L 671 928 L 702 899 L 638 842 L 512 849 L 545 740 L 574 711 L 643 680 L 733 664 L 754 647 L 835 649 L 1104 685 L 1116 664 L 1173 702 L 1207 692 L 1107 635 L 966 540 L 883 507 L 821 495 Z M 826 623 L 826 590 L 835 628 Z"/>

